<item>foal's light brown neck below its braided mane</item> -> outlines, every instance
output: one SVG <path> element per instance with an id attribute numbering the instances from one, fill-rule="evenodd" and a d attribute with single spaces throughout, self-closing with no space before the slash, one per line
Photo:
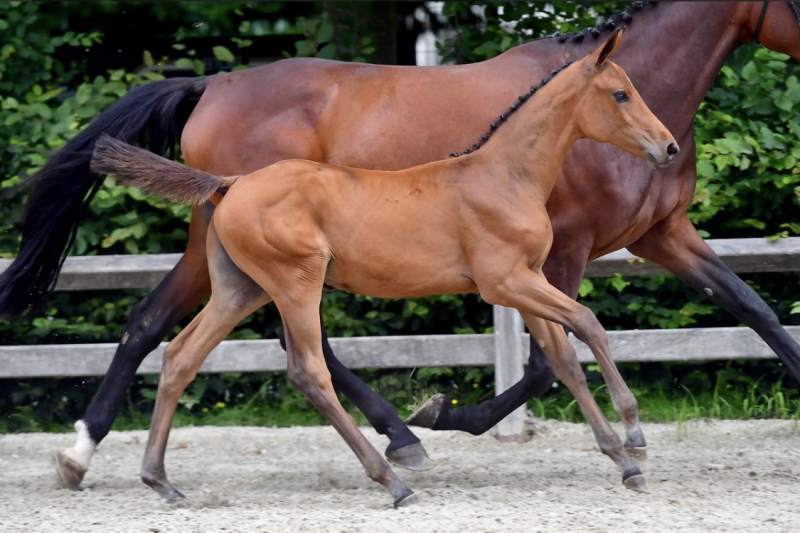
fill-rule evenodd
<path id="1" fill-rule="evenodd" d="M 539 89 L 473 154 L 475 164 L 493 167 L 491 174 L 502 173 L 504 182 L 532 186 L 546 200 L 569 147 L 581 137 L 574 113 L 579 77 L 577 69 L 565 70 Z"/>

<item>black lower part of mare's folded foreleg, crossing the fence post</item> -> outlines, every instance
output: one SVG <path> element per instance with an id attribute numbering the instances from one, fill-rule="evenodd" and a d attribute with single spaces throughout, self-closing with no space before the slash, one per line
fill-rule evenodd
<path id="1" fill-rule="evenodd" d="M 450 402 L 442 402 L 433 424 L 435 430 L 485 433 L 529 399 L 541 396 L 553 385 L 555 376 L 536 340 L 531 338 L 531 355 L 522 379 L 499 396 L 478 405 L 454 410 Z"/>

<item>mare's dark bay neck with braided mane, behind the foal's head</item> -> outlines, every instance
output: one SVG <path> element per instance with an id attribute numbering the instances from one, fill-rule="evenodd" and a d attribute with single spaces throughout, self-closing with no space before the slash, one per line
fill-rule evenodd
<path id="1" fill-rule="evenodd" d="M 692 131 L 694 115 L 725 60 L 749 35 L 749 9 L 740 2 L 659 2 L 634 13 L 627 25 L 614 62 L 679 141 Z M 550 68 L 556 68 L 592 52 L 610 33 L 580 43 L 542 39 L 515 53 L 550 56 Z"/>

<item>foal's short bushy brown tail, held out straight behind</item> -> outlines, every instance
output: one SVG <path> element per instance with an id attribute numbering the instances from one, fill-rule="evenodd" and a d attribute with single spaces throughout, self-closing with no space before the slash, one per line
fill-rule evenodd
<path id="1" fill-rule="evenodd" d="M 195 170 L 108 135 L 97 140 L 91 169 L 96 174 L 114 174 L 126 185 L 178 204 L 201 204 L 236 181 L 236 176 L 222 177 Z"/>

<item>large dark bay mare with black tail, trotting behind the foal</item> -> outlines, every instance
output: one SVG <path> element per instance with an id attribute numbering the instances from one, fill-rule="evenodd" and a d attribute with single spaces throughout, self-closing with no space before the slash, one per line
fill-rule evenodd
<path id="1" fill-rule="evenodd" d="M 800 33 L 785 2 L 659 2 L 631 6 L 614 20 L 628 26 L 616 61 L 684 147 L 694 143 L 694 114 L 723 62 L 754 40 L 759 20 L 761 45 L 800 59 Z M 180 141 L 190 166 L 228 175 L 290 158 L 408 168 L 471 147 L 531 80 L 582 57 L 596 45 L 595 35 L 608 33 L 601 25 L 569 37 L 540 39 L 474 65 L 381 67 L 293 59 L 135 89 L 67 143 L 33 180 L 18 258 L 0 275 L 0 314 L 17 315 L 41 304 L 49 293 L 86 203 L 102 184 L 103 176 L 89 170 L 89 154 L 103 133 L 158 153 Z M 574 194 L 587 190 L 587 183 L 592 183 L 592 194 Z M 683 150 L 672 167 L 651 171 L 613 147 L 578 141 L 547 204 L 555 240 L 545 275 L 574 298 L 588 261 L 627 247 L 752 327 L 798 379 L 800 347 L 686 218 L 694 187 L 693 150 Z M 207 297 L 205 235 L 212 212 L 210 203 L 194 208 L 182 259 L 134 307 L 125 342 L 76 423 L 75 446 L 58 455 L 67 486 L 80 485 L 141 361 Z M 547 341 L 553 332 L 544 333 L 537 340 L 545 340 L 545 350 L 556 349 Z M 327 340 L 323 348 L 334 385 L 391 439 L 387 455 L 406 466 L 424 464 L 419 439 L 392 406 L 336 360 Z M 452 412 L 444 403 L 437 416 L 424 418 L 435 421 L 434 429 L 480 433 L 549 389 L 552 380 L 538 342 L 531 342 L 528 371 L 507 393 Z"/>

